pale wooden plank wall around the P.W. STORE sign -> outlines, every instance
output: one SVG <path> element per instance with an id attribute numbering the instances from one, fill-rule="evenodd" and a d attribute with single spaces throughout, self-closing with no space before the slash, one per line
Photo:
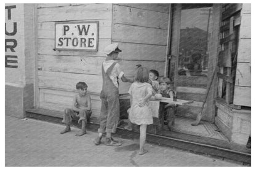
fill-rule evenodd
<path id="1" fill-rule="evenodd" d="M 76 83 L 84 81 L 92 97 L 92 116 L 100 113 L 103 49 L 113 42 L 118 63 L 133 78 L 136 64 L 164 75 L 169 6 L 157 4 L 38 4 L 38 88 L 41 109 L 62 112 L 72 106 Z M 99 21 L 98 51 L 55 50 L 55 23 Z M 83 58 L 86 63 L 82 63 Z M 119 93 L 130 83 L 120 82 Z"/>

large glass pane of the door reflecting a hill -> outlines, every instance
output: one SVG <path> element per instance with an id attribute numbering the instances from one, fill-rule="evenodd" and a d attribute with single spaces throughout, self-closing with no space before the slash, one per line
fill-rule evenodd
<path id="1" fill-rule="evenodd" d="M 212 5 L 182 5 L 178 75 L 207 76 Z"/>

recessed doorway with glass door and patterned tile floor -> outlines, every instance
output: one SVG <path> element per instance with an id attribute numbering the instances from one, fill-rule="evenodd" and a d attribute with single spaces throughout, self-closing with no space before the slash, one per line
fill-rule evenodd
<path id="1" fill-rule="evenodd" d="M 206 117 L 191 126 L 201 112 L 207 88 L 215 71 L 220 4 L 172 4 L 170 53 L 167 76 L 173 80 L 178 99 L 193 100 L 177 107 L 175 131 L 227 140 L 214 125 L 213 92 L 206 102 Z M 209 108 L 210 109 L 209 109 Z"/>

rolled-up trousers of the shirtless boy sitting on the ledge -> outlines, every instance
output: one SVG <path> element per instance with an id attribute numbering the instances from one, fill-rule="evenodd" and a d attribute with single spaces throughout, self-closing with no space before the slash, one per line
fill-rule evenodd
<path id="1" fill-rule="evenodd" d="M 66 108 L 64 110 L 62 122 L 66 125 L 71 125 L 72 120 L 79 120 L 79 118 L 83 118 L 87 124 L 87 122 L 90 120 L 90 115 L 92 115 L 92 111 L 90 110 L 81 110 L 79 112 L 75 112 L 73 109 Z"/>

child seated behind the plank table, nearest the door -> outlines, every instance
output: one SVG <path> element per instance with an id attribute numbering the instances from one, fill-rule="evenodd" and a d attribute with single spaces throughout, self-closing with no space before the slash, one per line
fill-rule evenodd
<path id="1" fill-rule="evenodd" d="M 171 80 L 167 77 L 162 77 L 159 80 L 159 90 L 164 98 L 173 98 L 173 90 L 170 88 L 170 83 Z M 173 131 L 176 112 L 177 106 L 175 104 L 160 102 L 159 120 L 161 126 L 164 124 L 164 120 L 167 120 L 168 128 Z"/>

